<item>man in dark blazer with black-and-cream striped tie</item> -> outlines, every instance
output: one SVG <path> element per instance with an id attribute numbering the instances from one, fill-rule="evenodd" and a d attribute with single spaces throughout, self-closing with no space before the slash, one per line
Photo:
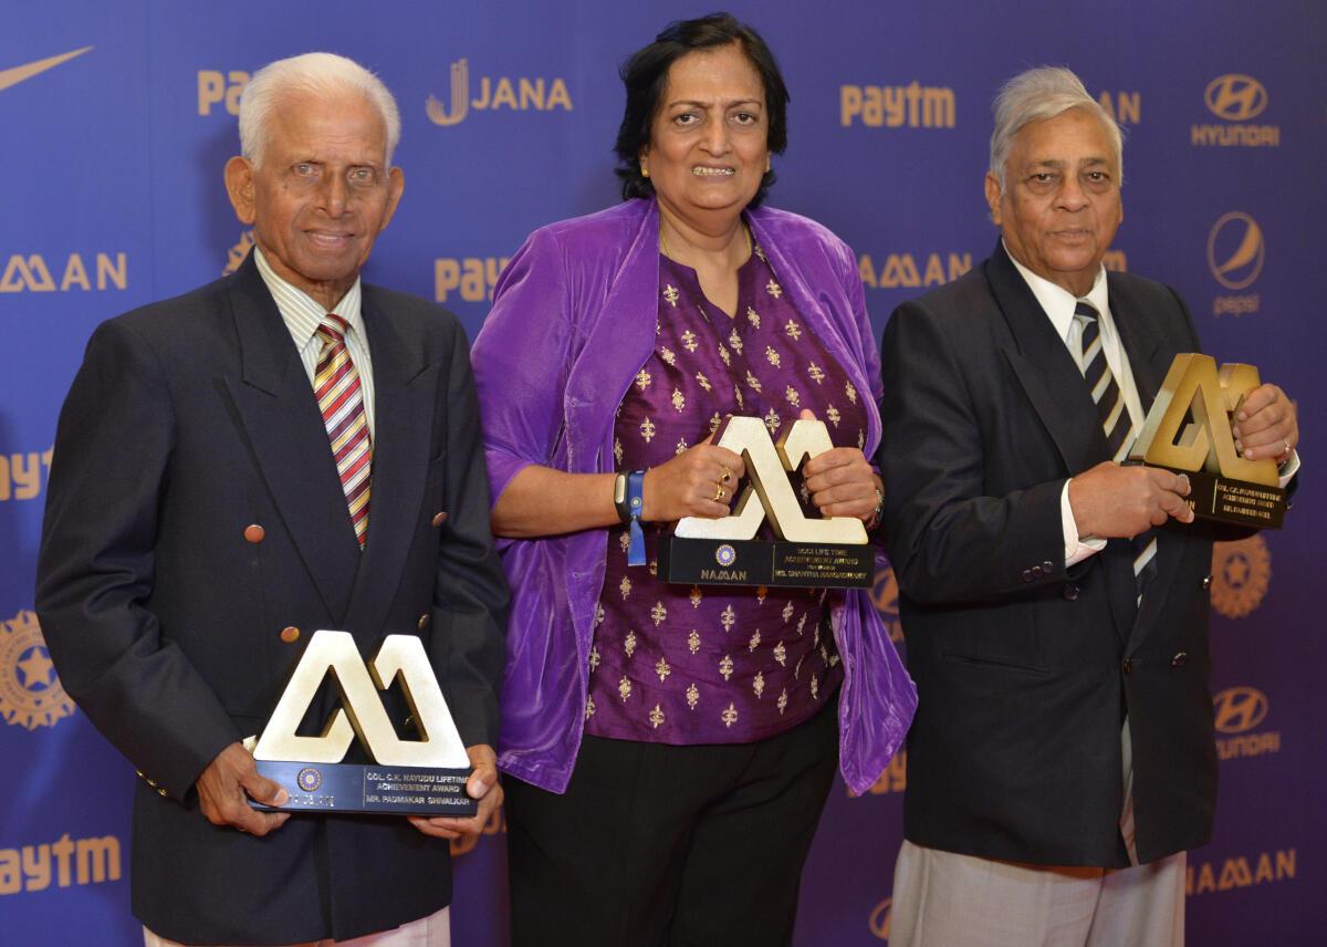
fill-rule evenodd
<path id="1" fill-rule="evenodd" d="M 1216 804 L 1213 531 L 1185 477 L 1120 461 L 1198 339 L 1174 291 L 1101 267 L 1120 179 L 1071 72 L 1015 77 L 986 177 L 1001 242 L 885 329 L 877 460 L 920 693 L 896 947 L 1184 938 Z M 1234 434 L 1298 466 L 1275 385 Z"/>

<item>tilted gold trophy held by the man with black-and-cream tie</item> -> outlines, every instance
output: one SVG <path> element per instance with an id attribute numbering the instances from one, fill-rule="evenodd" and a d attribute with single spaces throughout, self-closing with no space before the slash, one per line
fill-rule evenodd
<path id="1" fill-rule="evenodd" d="M 1189 506 L 1204 519 L 1279 529 L 1286 491 L 1277 462 L 1245 460 L 1230 434 L 1230 418 L 1258 384 L 1253 365 L 1222 365 L 1218 372 L 1212 356 L 1177 355 L 1129 461 L 1188 474 Z"/>

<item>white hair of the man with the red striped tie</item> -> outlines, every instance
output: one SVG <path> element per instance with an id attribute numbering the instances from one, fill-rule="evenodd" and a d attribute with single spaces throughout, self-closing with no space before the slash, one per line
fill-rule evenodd
<path id="1" fill-rule="evenodd" d="M 387 130 L 386 165 L 401 141 L 401 112 L 397 100 L 377 76 L 354 60 L 334 53 L 304 53 L 277 60 L 253 73 L 240 97 L 240 154 L 256 166 L 263 163 L 268 125 L 277 101 L 291 94 L 333 97 L 360 94 L 382 116 Z"/>

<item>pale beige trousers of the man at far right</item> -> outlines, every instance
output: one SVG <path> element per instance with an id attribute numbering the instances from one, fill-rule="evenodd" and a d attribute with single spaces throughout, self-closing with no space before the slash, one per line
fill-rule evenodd
<path id="1" fill-rule="evenodd" d="M 1182 947 L 1186 855 L 1137 863 L 1128 721 L 1120 744 L 1120 834 L 1132 867 L 1020 865 L 905 841 L 894 866 L 890 947 Z"/>

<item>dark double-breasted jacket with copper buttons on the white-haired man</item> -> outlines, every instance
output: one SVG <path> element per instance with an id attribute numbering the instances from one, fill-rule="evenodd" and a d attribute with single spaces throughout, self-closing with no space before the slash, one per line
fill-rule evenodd
<path id="1" fill-rule="evenodd" d="M 418 635 L 462 740 L 496 744 L 507 588 L 466 337 L 413 296 L 365 286 L 362 311 L 377 417 L 362 553 L 252 258 L 102 324 L 60 416 L 37 612 L 65 688 L 145 777 L 134 914 L 175 940 L 345 939 L 451 897 L 447 842 L 402 817 L 296 814 L 253 838 L 207 822 L 194 790 L 261 729 L 318 628 L 365 656 Z M 402 723 L 403 701 L 385 703 Z"/>

